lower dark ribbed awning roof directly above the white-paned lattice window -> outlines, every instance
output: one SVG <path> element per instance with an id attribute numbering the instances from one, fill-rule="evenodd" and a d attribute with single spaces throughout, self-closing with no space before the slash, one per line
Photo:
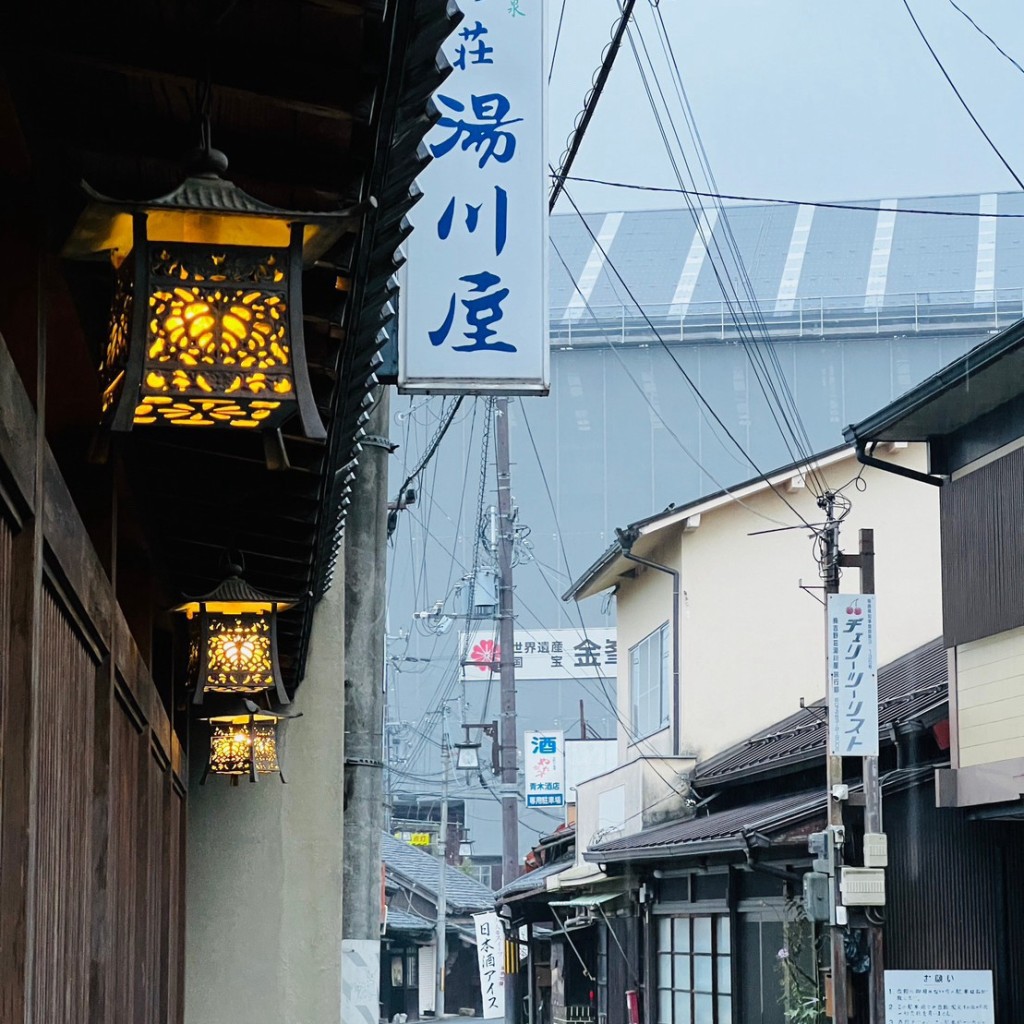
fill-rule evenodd
<path id="1" fill-rule="evenodd" d="M 935 767 L 925 765 L 890 772 L 882 779 L 883 792 L 916 785 L 931 778 Z M 690 851 L 703 855 L 743 850 L 748 845 L 763 847 L 772 840 L 784 842 L 788 838 L 786 833 L 795 825 L 812 822 L 815 817 L 823 821 L 824 812 L 825 794 L 819 788 L 647 828 L 635 836 L 602 843 L 588 850 L 585 856 L 590 861 L 614 863 L 656 860 Z"/>

